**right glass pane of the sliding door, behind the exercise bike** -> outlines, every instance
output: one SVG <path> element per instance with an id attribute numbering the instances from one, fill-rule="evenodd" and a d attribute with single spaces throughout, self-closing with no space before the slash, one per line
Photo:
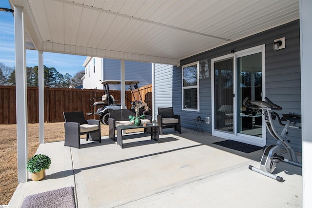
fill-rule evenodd
<path id="1" fill-rule="evenodd" d="M 261 110 L 253 110 L 243 105 L 243 100 L 261 101 L 262 62 L 261 53 L 236 59 L 237 65 L 237 133 L 262 137 Z"/>

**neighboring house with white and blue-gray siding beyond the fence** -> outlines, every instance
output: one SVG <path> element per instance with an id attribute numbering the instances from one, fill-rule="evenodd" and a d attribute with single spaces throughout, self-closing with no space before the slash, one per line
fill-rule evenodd
<path id="1" fill-rule="evenodd" d="M 82 66 L 85 67 L 84 89 L 103 89 L 104 80 L 120 80 L 120 60 L 87 57 Z M 152 63 L 125 61 L 125 80 L 139 81 L 139 87 L 152 83 Z M 120 90 L 120 85 L 109 87 Z"/>

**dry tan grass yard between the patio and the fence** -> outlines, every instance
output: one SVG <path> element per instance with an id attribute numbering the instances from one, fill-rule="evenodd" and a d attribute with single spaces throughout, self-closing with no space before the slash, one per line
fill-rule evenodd
<path id="1" fill-rule="evenodd" d="M 0 132 L 0 205 L 7 205 L 18 186 L 16 125 L 0 125 Z M 101 135 L 108 135 L 108 125 L 101 124 Z M 63 122 L 44 124 L 45 143 L 64 139 Z M 28 124 L 28 159 L 34 156 L 38 146 L 39 124 Z"/>

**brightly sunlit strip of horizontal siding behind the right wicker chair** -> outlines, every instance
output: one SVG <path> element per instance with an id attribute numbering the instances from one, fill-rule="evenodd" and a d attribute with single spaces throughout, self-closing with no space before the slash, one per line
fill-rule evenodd
<path id="1" fill-rule="evenodd" d="M 155 64 L 155 115 L 158 107 L 172 107 L 173 100 L 173 66 Z M 174 109 L 175 111 L 175 109 Z M 176 113 L 176 112 L 175 112 Z"/>

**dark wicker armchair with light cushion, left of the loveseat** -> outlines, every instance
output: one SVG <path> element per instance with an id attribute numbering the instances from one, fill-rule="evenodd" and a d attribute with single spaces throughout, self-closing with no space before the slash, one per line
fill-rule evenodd
<path id="1" fill-rule="evenodd" d="M 80 148 L 80 135 L 86 134 L 87 141 L 101 143 L 101 125 L 99 120 L 85 120 L 82 111 L 63 112 L 65 123 L 65 146 Z"/>

